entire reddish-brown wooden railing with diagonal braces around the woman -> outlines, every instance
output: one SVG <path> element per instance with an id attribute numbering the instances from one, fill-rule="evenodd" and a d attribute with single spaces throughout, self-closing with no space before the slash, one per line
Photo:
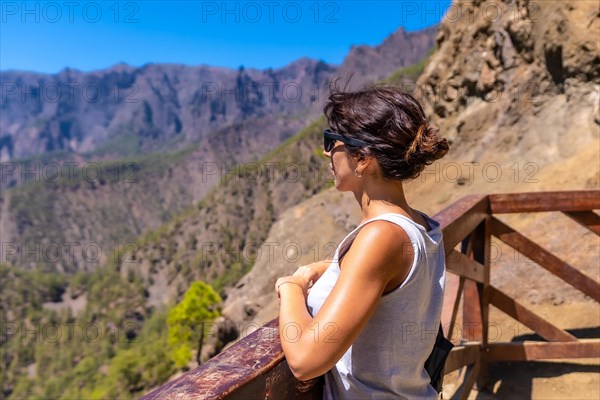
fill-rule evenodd
<path id="1" fill-rule="evenodd" d="M 600 301 L 600 284 L 495 217 L 506 213 L 560 211 L 600 235 L 600 191 L 538 192 L 466 196 L 434 216 L 441 223 L 447 271 L 442 323 L 457 324 L 463 299 L 460 344 L 446 373 L 464 368 L 453 397 L 466 399 L 485 383 L 487 365 L 497 361 L 600 357 L 600 339 L 578 339 L 490 284 L 490 243 L 494 236 L 566 283 Z M 457 249 L 459 248 L 459 249 Z M 546 341 L 488 341 L 489 306 L 529 327 Z M 150 399 L 321 399 L 323 380 L 294 378 L 285 361 L 277 319 L 143 397 Z"/>

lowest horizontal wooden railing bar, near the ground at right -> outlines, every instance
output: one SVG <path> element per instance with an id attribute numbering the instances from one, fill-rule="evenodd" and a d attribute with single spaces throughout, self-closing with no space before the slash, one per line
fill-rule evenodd
<path id="1" fill-rule="evenodd" d="M 564 358 L 599 358 L 600 339 L 575 342 L 490 343 L 485 359 L 494 361 L 529 361 Z"/>

